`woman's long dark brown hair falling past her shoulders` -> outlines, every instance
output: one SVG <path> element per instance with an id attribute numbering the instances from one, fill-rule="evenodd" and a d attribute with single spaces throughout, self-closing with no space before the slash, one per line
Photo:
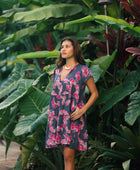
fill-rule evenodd
<path id="1" fill-rule="evenodd" d="M 73 46 L 73 49 L 74 49 L 75 60 L 79 64 L 85 65 L 82 50 L 81 50 L 81 47 L 80 47 L 78 40 L 73 38 L 73 37 L 66 37 L 66 38 L 62 39 L 61 45 L 64 41 L 70 41 L 72 43 L 72 46 Z M 57 68 L 59 68 L 59 67 L 63 66 L 64 64 L 66 64 L 66 59 L 62 58 L 61 53 L 60 53 L 58 59 L 56 60 L 56 66 L 57 66 Z"/>

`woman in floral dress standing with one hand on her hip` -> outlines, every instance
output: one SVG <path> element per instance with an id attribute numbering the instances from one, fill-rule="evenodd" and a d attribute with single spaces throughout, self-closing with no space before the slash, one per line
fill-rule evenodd
<path id="1" fill-rule="evenodd" d="M 65 170 L 74 170 L 75 150 L 88 148 L 85 113 L 97 99 L 98 92 L 75 38 L 62 40 L 56 65 L 48 110 L 46 148 L 63 147 Z M 84 104 L 86 85 L 91 96 Z"/>

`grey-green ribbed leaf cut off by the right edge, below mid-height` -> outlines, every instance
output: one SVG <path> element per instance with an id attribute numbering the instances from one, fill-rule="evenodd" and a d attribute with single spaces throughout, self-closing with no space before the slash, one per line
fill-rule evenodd
<path id="1" fill-rule="evenodd" d="M 140 92 L 136 91 L 130 96 L 130 103 L 125 113 L 125 121 L 133 126 L 138 117 L 140 117 Z"/>

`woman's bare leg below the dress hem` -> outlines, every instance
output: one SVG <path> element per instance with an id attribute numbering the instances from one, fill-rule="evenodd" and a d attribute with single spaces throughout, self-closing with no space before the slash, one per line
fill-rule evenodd
<path id="1" fill-rule="evenodd" d="M 64 147 L 64 164 L 65 170 L 75 170 L 75 150 Z"/>

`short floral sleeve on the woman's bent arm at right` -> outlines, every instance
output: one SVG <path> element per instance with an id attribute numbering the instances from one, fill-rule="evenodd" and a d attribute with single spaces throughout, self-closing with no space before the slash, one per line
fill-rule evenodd
<path id="1" fill-rule="evenodd" d="M 82 67 L 82 80 L 83 80 L 83 83 L 86 83 L 86 81 L 90 77 L 93 77 L 91 71 L 89 70 L 89 68 L 87 66 L 83 66 Z"/>

